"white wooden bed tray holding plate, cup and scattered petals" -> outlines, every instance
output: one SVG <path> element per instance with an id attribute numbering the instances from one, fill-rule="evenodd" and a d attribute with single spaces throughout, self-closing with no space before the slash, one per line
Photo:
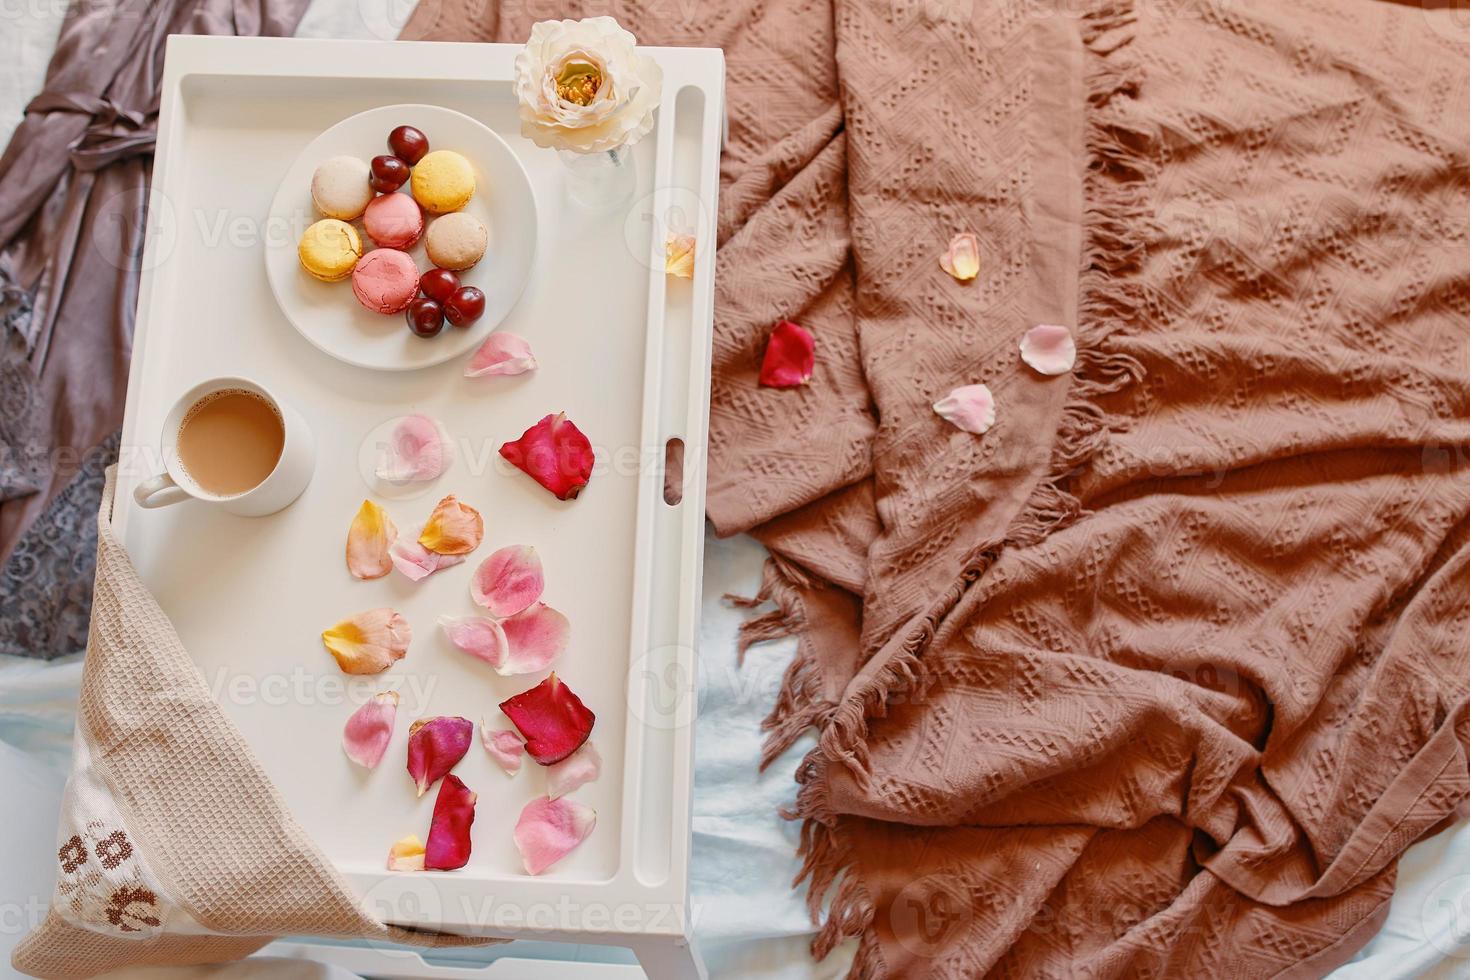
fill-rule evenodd
<path id="1" fill-rule="evenodd" d="M 651 48 L 664 94 L 654 132 L 635 147 L 637 191 L 628 204 L 594 213 L 567 200 L 556 154 L 519 135 L 509 81 L 516 50 L 169 38 L 115 522 L 225 713 L 375 912 L 476 934 L 679 943 L 689 933 L 723 57 Z M 413 372 L 356 369 L 313 348 L 281 314 L 262 260 L 281 175 L 325 128 L 395 103 L 467 113 L 525 163 L 538 251 L 503 329 L 531 339 L 538 372 L 466 379 L 463 359 Z M 698 235 L 692 282 L 663 273 L 670 222 Z M 319 445 L 312 485 L 265 519 L 196 501 L 135 507 L 134 485 L 157 470 L 169 404 L 193 382 L 229 373 L 268 383 L 306 416 Z M 485 542 L 470 561 L 417 585 L 397 573 L 357 582 L 343 545 L 369 495 L 362 460 L 372 458 L 382 423 L 410 411 L 444 423 L 457 460 L 417 497 L 376 500 L 410 529 L 454 492 L 485 516 Z M 576 501 L 556 501 L 497 455 L 501 442 L 554 411 L 566 411 L 597 450 L 597 470 Z M 686 445 L 685 489 L 682 502 L 667 504 L 663 458 L 675 438 Z M 572 621 L 572 645 L 556 670 L 597 713 L 603 774 L 576 793 L 597 808 L 597 829 L 542 877 L 525 876 L 512 827 L 542 793 L 542 771 L 528 763 L 509 779 L 475 745 L 456 768 L 479 793 L 469 865 L 390 874 L 388 846 L 407 833 L 423 836 L 434 805 L 434 792 L 415 799 L 404 771 L 409 723 L 460 714 L 504 724 L 495 705 L 544 676 L 500 677 L 453 649 L 435 626 L 441 614 L 476 611 L 470 572 L 507 544 L 539 551 L 544 598 Z M 410 652 L 378 677 L 347 677 L 319 633 L 376 605 L 409 619 Z M 398 732 L 384 763 L 365 771 L 343 755 L 343 723 L 388 688 L 403 698 Z M 678 976 L 686 967 L 679 964 Z"/>

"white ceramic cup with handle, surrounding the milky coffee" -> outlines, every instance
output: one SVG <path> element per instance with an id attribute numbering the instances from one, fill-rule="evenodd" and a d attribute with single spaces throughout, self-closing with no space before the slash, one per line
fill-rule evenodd
<path id="1" fill-rule="evenodd" d="M 250 392 L 269 404 L 281 419 L 284 439 L 275 469 L 263 480 L 241 494 L 219 495 L 200 486 L 184 469 L 179 460 L 179 430 L 194 406 L 213 394 L 232 389 Z M 244 517 L 263 517 L 300 497 L 312 482 L 312 469 L 316 466 L 316 439 L 306 420 L 295 408 L 248 378 L 212 378 L 179 395 L 163 420 L 162 448 L 165 472 L 143 480 L 132 491 L 132 498 L 141 507 L 168 507 L 193 498 Z"/>

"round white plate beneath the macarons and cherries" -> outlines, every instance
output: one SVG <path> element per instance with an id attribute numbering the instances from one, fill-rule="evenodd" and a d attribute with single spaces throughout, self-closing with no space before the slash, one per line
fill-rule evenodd
<path id="1" fill-rule="evenodd" d="M 384 316 L 365 310 L 353 295 L 351 281 L 320 282 L 301 269 L 297 242 L 320 215 L 312 206 L 312 173 L 332 156 L 372 160 L 388 153 L 388 134 L 416 126 L 429 138 L 429 150 L 454 150 L 475 167 L 475 197 L 465 210 L 490 229 L 485 257 L 459 273 L 465 285 L 485 291 L 485 314 L 469 328 L 445 322 L 438 336 L 409 331 L 401 313 Z M 407 185 L 398 191 L 407 194 Z M 425 215 L 426 223 L 434 216 Z M 363 248 L 372 239 L 362 234 Z M 270 291 L 301 336 L 332 357 L 375 370 L 413 370 L 442 364 L 475 350 L 520 298 L 537 251 L 537 203 L 520 160 L 506 141 L 469 116 L 438 106 L 382 106 L 348 116 L 313 140 L 285 172 L 266 235 L 266 278 Z M 288 231 L 287 231 L 288 229 Z M 410 253 L 419 272 L 434 266 L 419 239 Z"/>

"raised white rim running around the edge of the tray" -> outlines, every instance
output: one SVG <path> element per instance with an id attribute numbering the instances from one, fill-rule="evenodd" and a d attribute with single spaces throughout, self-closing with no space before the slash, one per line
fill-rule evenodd
<path id="1" fill-rule="evenodd" d="M 171 35 L 166 43 L 162 100 L 159 112 L 159 135 L 153 169 L 153 187 L 169 187 L 171 175 L 176 169 L 175 157 L 179 153 L 182 134 L 185 129 L 184 112 L 181 109 L 182 87 L 190 78 L 303 78 L 303 79 L 351 79 L 369 76 L 360 71 L 363 65 L 375 65 L 370 73 L 375 79 L 401 78 L 415 81 L 454 81 L 454 82 L 490 82 L 507 84 L 513 76 L 513 60 L 519 44 L 485 44 L 459 41 L 360 41 L 360 40 L 301 40 L 301 38 L 240 38 L 219 35 Z M 719 192 L 719 154 L 722 148 L 722 132 L 725 123 L 725 59 L 720 48 L 694 47 L 645 47 L 641 48 L 656 57 L 664 73 L 663 100 L 657 118 L 656 143 L 659 166 L 654 176 L 654 190 L 660 200 L 669 200 L 669 188 L 660 184 L 660 175 L 667 173 L 672 157 L 673 104 L 679 94 L 688 88 L 697 88 L 704 97 L 704 113 L 700 134 L 701 169 L 700 169 L 700 198 L 707 203 L 710 215 L 714 213 Z M 382 57 L 391 51 L 391 57 Z M 381 71 L 376 68 L 381 66 Z M 128 394 L 125 400 L 122 444 L 123 447 L 150 445 L 153 439 L 137 438 L 138 401 L 144 383 L 144 367 L 148 361 L 148 335 L 153 309 L 156 306 L 156 276 L 157 263 L 150 262 L 154 241 L 151 235 L 146 241 L 141 279 L 138 285 L 138 307 L 134 328 L 132 360 L 129 364 Z M 644 445 L 663 445 L 663 438 L 650 438 L 659 429 L 659 413 L 650 410 L 650 397 L 656 394 L 654 379 L 660 379 L 662 345 L 654 341 L 663 339 L 663 316 L 666 276 L 662 263 L 662 242 L 650 242 L 657 254 L 650 254 L 650 287 L 648 287 L 648 326 L 645 334 L 645 376 L 644 376 Z M 654 262 L 657 259 L 657 262 Z M 682 669 L 681 683 L 686 677 L 688 691 L 679 691 L 682 696 L 694 698 L 697 691 L 698 666 L 698 621 L 700 621 L 700 592 L 703 585 L 703 551 L 704 551 L 704 495 L 706 495 L 706 450 L 709 438 L 709 391 L 711 370 L 711 332 L 713 332 L 713 276 L 714 276 L 714 245 L 713 226 L 710 228 L 710 244 L 700 250 L 695 259 L 694 291 L 692 291 L 692 323 L 698 328 L 691 331 L 691 359 L 688 366 L 689 389 L 685 398 L 685 411 L 678 432 L 670 430 L 685 441 L 685 502 L 698 504 L 673 508 L 656 507 L 662 502 L 662 467 L 645 467 L 639 478 L 638 492 L 638 533 L 635 545 L 635 574 L 641 582 L 647 580 L 653 555 L 648 541 L 650 526 L 659 522 L 676 535 L 679 574 L 685 583 L 681 589 L 676 607 L 672 610 L 672 621 L 676 624 L 676 649 L 679 651 L 678 666 Z M 360 369 L 362 370 L 362 369 Z M 113 526 L 119 539 L 126 541 L 128 514 L 131 501 L 116 508 Z M 637 594 L 637 592 L 635 592 Z M 639 644 L 639 632 L 647 633 L 647 610 L 634 610 L 632 645 Z M 647 645 L 647 644 L 645 644 Z M 637 679 L 629 671 L 629 696 L 637 696 L 634 685 Z M 637 724 L 629 716 L 625 724 L 625 760 L 632 760 L 635 752 L 644 748 L 650 726 Z M 637 745 L 635 745 L 637 742 Z M 634 849 L 638 842 L 637 821 L 631 818 L 634 808 L 629 796 L 631 786 L 638 770 L 625 765 L 623 785 L 623 820 L 620 821 L 622 840 L 619 843 L 619 867 L 607 880 L 591 883 L 567 882 L 537 877 L 495 877 L 470 879 L 456 874 L 432 876 L 434 887 L 444 896 L 444 908 L 451 907 L 450 899 L 465 899 L 459 908 L 467 908 L 467 899 L 484 898 L 482 886 L 492 887 L 497 902 L 503 905 L 538 905 L 554 902 L 557 898 L 573 892 L 579 902 L 598 905 L 601 908 L 620 907 L 629 902 L 657 905 L 667 908 L 669 915 L 639 918 L 631 929 L 587 929 L 578 923 L 562 921 L 557 927 L 538 927 L 526 923 L 519 927 L 503 924 L 488 926 L 484 921 L 473 921 L 467 915 L 442 915 L 432 920 L 394 918 L 392 921 L 406 926 L 434 926 L 459 932 L 463 934 L 497 936 L 497 937 L 537 937 L 564 942 L 606 942 L 620 943 L 638 936 L 667 936 L 686 939 L 691 933 L 688 908 L 688 870 L 689 842 L 692 836 L 692 789 L 694 789 L 694 723 L 692 718 L 675 729 L 673 758 L 669 771 L 673 801 L 673 820 L 669 840 L 669 874 L 662 882 L 648 882 L 637 874 L 634 867 Z M 387 871 L 365 874 L 343 871 L 359 892 L 372 893 L 375 901 L 401 908 L 401 902 L 394 902 L 394 895 L 401 893 L 412 898 L 413 882 L 423 882 L 420 874 L 390 876 Z M 428 874 L 428 873 L 423 873 Z"/>

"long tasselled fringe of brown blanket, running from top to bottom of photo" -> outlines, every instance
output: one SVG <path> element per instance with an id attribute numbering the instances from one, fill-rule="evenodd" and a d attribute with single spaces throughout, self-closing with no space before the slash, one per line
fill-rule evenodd
<path id="1" fill-rule="evenodd" d="M 1088 170 L 1083 175 L 1085 256 L 1079 278 L 1079 336 L 1072 388 L 1061 411 L 1057 439 L 1047 475 L 1033 488 L 1020 513 L 997 541 L 982 542 L 963 563 L 958 579 L 907 629 L 898 651 L 857 691 L 825 710 L 826 724 L 817 748 L 798 771 L 801 789 L 786 818 L 801 820 L 801 873 L 797 884 L 808 883 L 807 904 L 813 921 L 826 920 L 811 943 L 817 958 L 844 939 L 861 936 L 850 977 L 885 973 L 876 930 L 872 929 L 872 896 L 854 868 L 854 854 L 845 843 L 828 796 L 828 765 L 844 765 L 861 783 L 870 782 L 867 726 L 883 717 L 888 704 L 925 682 L 923 654 L 939 624 L 1008 547 L 1025 547 L 1086 514 L 1069 483 L 1122 430 L 1126 419 L 1110 414 L 1100 400 L 1142 381 L 1142 366 L 1127 354 L 1108 350 L 1108 338 L 1125 329 L 1142 309 L 1144 297 L 1133 276 L 1144 262 L 1145 242 L 1154 228 L 1147 188 L 1154 176 L 1154 134 L 1130 119 L 1130 97 L 1138 93 L 1141 68 L 1126 50 L 1135 24 L 1133 0 L 1094 4 L 1082 15 L 1082 40 L 1088 48 Z M 1080 329 L 1079 329 L 1080 334 Z M 804 682 L 810 667 L 792 664 L 792 686 Z M 782 691 L 784 701 L 800 696 Z M 773 716 L 778 713 L 773 713 Z M 792 716 L 794 717 L 794 716 Z M 792 736 L 794 738 L 794 736 Z"/>

